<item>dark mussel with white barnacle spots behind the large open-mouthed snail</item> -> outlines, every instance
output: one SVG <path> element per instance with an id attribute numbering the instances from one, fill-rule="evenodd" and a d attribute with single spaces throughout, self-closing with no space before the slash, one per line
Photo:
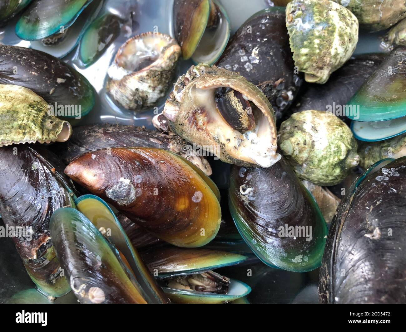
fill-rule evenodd
<path id="1" fill-rule="evenodd" d="M 249 18 L 231 38 L 216 63 L 239 72 L 260 88 L 281 120 L 303 82 L 295 73 L 285 25 L 285 9 L 272 7 Z"/>

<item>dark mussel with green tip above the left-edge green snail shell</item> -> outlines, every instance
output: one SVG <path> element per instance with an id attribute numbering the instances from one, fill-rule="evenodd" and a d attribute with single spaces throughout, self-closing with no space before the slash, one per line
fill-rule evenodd
<path id="1" fill-rule="evenodd" d="M 0 45 L 0 71 L 0 84 L 32 90 L 52 106 L 54 115 L 78 119 L 95 103 L 94 89 L 83 75 L 41 51 Z"/>

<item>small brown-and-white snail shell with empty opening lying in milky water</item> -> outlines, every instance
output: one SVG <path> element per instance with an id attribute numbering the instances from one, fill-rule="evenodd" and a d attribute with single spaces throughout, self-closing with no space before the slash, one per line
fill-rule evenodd
<path id="1" fill-rule="evenodd" d="M 162 98 L 181 49 L 166 34 L 146 32 L 126 41 L 108 69 L 106 90 L 125 109 L 140 111 Z"/>

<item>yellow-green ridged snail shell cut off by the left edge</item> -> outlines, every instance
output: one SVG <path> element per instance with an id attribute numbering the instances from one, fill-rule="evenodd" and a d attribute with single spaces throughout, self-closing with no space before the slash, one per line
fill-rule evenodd
<path id="1" fill-rule="evenodd" d="M 31 90 L 0 84 L 0 146 L 67 141 L 71 125 L 48 111 L 45 100 Z"/>

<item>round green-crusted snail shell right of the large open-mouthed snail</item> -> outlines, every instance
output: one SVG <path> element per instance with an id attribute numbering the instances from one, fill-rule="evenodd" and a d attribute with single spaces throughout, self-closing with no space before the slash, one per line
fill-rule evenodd
<path id="1" fill-rule="evenodd" d="M 278 143 L 296 174 L 319 186 L 341 182 L 359 162 L 350 128 L 324 111 L 292 114 L 281 124 Z"/>

